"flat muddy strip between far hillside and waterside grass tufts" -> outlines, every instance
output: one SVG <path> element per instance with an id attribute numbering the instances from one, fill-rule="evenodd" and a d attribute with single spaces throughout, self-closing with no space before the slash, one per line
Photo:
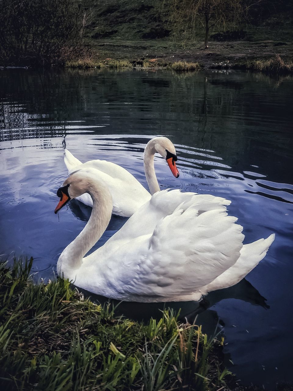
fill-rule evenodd
<path id="1" fill-rule="evenodd" d="M 204 49 L 201 42 L 175 43 L 163 39 L 148 41 L 99 40 L 93 43 L 93 58 L 148 59 L 154 64 L 176 61 L 198 62 L 203 68 L 237 68 L 246 61 L 269 59 L 279 54 L 284 61 L 293 59 L 293 42 L 233 41 L 211 42 Z"/>

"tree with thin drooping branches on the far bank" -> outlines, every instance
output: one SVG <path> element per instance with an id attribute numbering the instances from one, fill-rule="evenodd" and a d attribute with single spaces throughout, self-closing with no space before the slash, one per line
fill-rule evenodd
<path id="1" fill-rule="evenodd" d="M 255 0 L 254 5 L 261 0 Z M 204 27 L 204 46 L 208 47 L 209 31 L 226 28 L 227 23 L 237 25 L 247 16 L 250 5 L 244 0 L 161 0 L 160 9 L 169 20 L 174 32 Z"/>

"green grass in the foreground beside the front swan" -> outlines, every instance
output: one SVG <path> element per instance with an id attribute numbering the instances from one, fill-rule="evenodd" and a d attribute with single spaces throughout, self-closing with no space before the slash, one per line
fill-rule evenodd
<path id="1" fill-rule="evenodd" d="M 32 258 L 0 263 L 1 390 L 217 390 L 230 372 L 201 328 L 169 310 L 146 324 L 84 300 L 59 278 L 36 285 Z"/>

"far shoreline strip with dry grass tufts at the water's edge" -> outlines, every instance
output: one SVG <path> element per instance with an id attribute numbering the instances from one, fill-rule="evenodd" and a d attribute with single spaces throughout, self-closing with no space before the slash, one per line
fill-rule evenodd
<path id="1" fill-rule="evenodd" d="M 264 72 L 269 75 L 293 74 L 293 42 L 272 40 L 211 42 L 209 48 L 203 49 L 200 42 L 109 39 L 91 41 L 87 47 L 89 48 L 87 57 L 64 61 L 55 66 L 170 69 L 176 72 L 231 69 Z M 40 67 L 20 60 L 0 65 L 0 70 Z"/>

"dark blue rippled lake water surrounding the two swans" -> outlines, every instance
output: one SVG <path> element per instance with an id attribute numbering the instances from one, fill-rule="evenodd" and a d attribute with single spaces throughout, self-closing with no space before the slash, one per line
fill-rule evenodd
<path id="1" fill-rule="evenodd" d="M 81 161 L 118 163 L 147 187 L 145 144 L 167 136 L 180 178 L 157 156 L 162 188 L 230 199 L 245 243 L 276 233 L 245 280 L 206 297 L 197 323 L 212 333 L 219 321 L 225 363 L 244 384 L 292 382 L 292 88 L 289 78 L 236 71 L 2 70 L 1 254 L 33 256 L 38 276 L 52 278 L 59 254 L 88 221 L 91 208 L 75 200 L 54 214 L 65 146 Z M 125 221 L 113 217 L 96 246 Z M 178 305 L 193 321 L 197 304 Z M 144 304 L 142 313 L 122 303 L 120 310 L 146 319 L 160 308 Z"/>

